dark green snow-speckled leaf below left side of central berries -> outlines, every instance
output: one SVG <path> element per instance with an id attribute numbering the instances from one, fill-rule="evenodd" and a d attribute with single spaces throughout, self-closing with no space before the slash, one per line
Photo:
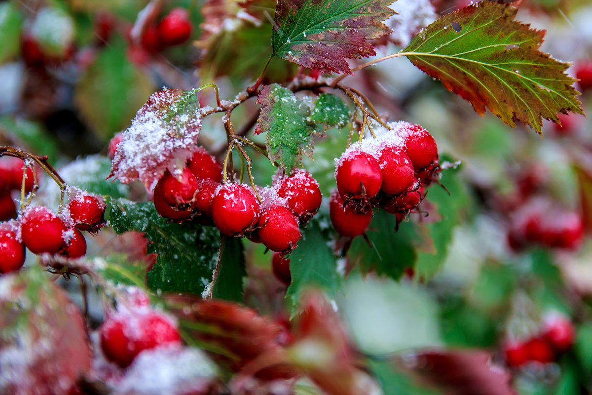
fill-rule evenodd
<path id="1" fill-rule="evenodd" d="M 148 273 L 153 290 L 201 294 L 212 278 L 220 234 L 196 223 L 169 223 L 152 202 L 111 200 L 109 222 L 116 233 L 138 230 L 150 240 L 148 252 L 158 254 Z"/>

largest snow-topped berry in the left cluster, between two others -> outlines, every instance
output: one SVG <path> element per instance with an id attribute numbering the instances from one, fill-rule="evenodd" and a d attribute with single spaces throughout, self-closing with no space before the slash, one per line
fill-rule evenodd
<path id="1" fill-rule="evenodd" d="M 33 253 L 59 252 L 66 245 L 64 232 L 66 225 L 46 207 L 30 208 L 22 216 L 22 242 Z"/>

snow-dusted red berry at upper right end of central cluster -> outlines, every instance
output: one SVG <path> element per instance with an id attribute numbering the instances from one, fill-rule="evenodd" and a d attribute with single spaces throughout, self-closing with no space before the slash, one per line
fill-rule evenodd
<path id="1" fill-rule="evenodd" d="M 298 217 L 308 219 L 321 207 L 322 195 L 318 182 L 305 170 L 282 179 L 277 192 L 279 197 L 288 201 L 288 208 Z"/>

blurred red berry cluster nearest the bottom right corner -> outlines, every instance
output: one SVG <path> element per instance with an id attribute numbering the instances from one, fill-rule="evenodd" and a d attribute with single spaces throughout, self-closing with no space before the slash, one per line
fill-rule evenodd
<path id="1" fill-rule="evenodd" d="M 511 367 L 521 367 L 528 362 L 548 364 L 570 350 L 575 330 L 571 321 L 558 314 L 548 316 L 534 336 L 522 341 L 506 341 L 503 357 Z"/>

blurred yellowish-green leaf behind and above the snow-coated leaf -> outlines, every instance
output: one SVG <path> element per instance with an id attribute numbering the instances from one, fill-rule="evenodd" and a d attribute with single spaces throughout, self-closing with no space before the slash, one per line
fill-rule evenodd
<path id="1" fill-rule="evenodd" d="M 76 84 L 75 102 L 82 117 L 107 140 L 129 126 L 154 91 L 150 77 L 130 63 L 123 40 L 98 53 Z"/>

